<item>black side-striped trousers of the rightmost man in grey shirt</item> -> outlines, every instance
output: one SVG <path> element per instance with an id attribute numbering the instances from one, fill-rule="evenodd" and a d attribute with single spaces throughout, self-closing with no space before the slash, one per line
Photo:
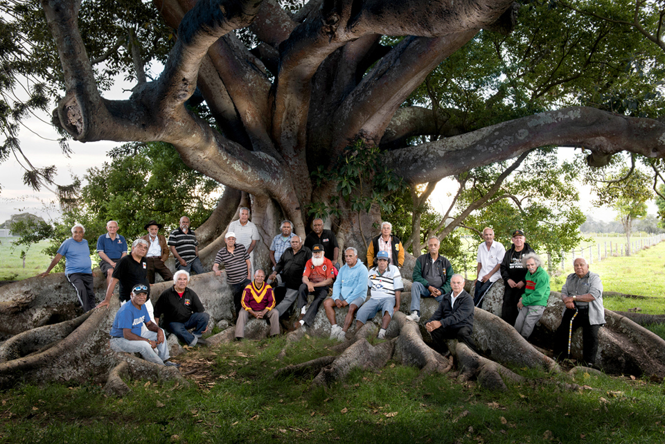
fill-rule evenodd
<path id="1" fill-rule="evenodd" d="M 577 316 L 573 319 L 575 312 Z M 570 321 L 573 321 L 573 328 L 570 330 Z M 554 342 L 554 356 L 567 358 L 569 335 L 578 328 L 582 328 L 582 359 L 589 365 L 596 363 L 596 354 L 598 353 L 598 330 L 601 325 L 592 326 L 589 324 L 589 308 L 579 308 L 571 310 L 566 308 L 563 312 L 563 319 L 556 329 L 556 339 Z"/>

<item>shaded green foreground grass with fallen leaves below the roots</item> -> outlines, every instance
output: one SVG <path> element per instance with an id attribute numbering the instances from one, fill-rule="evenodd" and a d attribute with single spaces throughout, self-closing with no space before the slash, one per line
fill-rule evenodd
<path id="1" fill-rule="evenodd" d="M 447 375 L 416 382 L 416 368 L 389 363 L 309 391 L 311 375 L 272 372 L 321 355 L 330 341 L 305 339 L 278 363 L 283 344 L 245 341 L 179 358 L 198 363 L 188 388 L 132 381 L 122 399 L 94 385 L 5 391 L 0 442 L 653 443 L 665 436 L 663 386 L 643 380 L 583 375 L 576 382 L 594 390 L 568 391 L 556 384 L 561 377 L 516 369 L 530 382 L 494 393 Z"/>

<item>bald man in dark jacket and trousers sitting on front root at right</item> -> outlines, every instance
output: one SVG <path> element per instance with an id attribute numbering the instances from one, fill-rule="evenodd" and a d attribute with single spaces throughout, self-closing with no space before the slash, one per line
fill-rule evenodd
<path id="1" fill-rule="evenodd" d="M 464 278 L 461 274 L 454 274 L 450 280 L 452 289 L 443 296 L 436 312 L 432 314 L 425 328 L 434 341 L 435 348 L 441 352 L 446 339 L 457 339 L 477 352 L 471 339 L 473 332 L 473 299 L 464 290 Z"/>

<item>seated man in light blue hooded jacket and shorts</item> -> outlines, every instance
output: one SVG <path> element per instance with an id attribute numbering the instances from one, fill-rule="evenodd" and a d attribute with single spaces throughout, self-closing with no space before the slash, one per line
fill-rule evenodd
<path id="1" fill-rule="evenodd" d="M 351 326 L 353 315 L 362 306 L 367 296 L 367 267 L 358 260 L 358 251 L 353 247 L 344 250 L 346 264 L 339 269 L 335 284 L 332 285 L 332 297 L 323 302 L 326 316 L 332 328 L 330 339 L 344 341 L 346 330 Z M 348 305 L 348 313 L 344 319 L 344 327 L 339 327 L 335 321 L 335 308 Z"/>

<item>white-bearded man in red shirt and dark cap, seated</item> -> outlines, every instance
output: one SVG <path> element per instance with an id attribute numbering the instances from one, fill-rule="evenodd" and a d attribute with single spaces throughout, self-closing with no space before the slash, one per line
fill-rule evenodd
<path id="1" fill-rule="evenodd" d="M 319 312 L 321 302 L 328 296 L 333 278 L 332 263 L 330 259 L 323 256 L 323 245 L 314 245 L 312 247 L 312 258 L 305 264 L 303 283 L 298 290 L 296 308 L 300 312 L 300 318 L 294 324 L 296 330 L 302 326 L 312 325 L 314 318 L 317 317 L 317 312 Z M 307 298 L 310 294 L 314 294 L 314 301 L 312 301 L 309 310 L 305 310 Z"/>

